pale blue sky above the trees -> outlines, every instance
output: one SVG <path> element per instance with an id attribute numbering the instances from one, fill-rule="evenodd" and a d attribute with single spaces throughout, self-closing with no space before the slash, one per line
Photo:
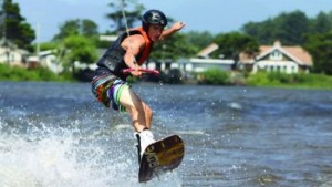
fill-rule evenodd
<path id="1" fill-rule="evenodd" d="M 37 32 L 35 42 L 50 41 L 68 20 L 90 19 L 100 32 L 112 30 L 106 14 L 110 2 L 120 0 L 12 0 L 21 15 Z M 121 1 L 120 1 L 121 2 Z M 332 11 L 331 0 L 137 0 L 146 10 L 158 9 L 175 21 L 183 21 L 187 31 L 214 34 L 239 31 L 250 21 L 260 22 L 282 12 L 300 10 L 308 18 Z"/>

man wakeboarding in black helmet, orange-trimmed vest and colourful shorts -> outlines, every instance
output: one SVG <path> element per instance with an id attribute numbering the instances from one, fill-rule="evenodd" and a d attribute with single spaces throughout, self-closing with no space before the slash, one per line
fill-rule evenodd
<path id="1" fill-rule="evenodd" d="M 141 76 L 141 65 L 147 60 L 154 42 L 159 42 L 181 30 L 183 22 L 169 29 L 166 15 L 159 10 L 148 10 L 143 14 L 142 27 L 121 34 L 97 61 L 92 80 L 92 92 L 106 107 L 126 111 L 137 137 L 139 160 L 145 148 L 155 142 L 151 131 L 153 111 L 133 91 L 126 79 Z M 125 72 L 126 69 L 133 71 Z"/>

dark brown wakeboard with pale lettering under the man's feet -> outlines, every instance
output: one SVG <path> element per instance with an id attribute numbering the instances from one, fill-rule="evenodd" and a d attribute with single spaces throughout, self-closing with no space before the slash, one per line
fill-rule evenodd
<path id="1" fill-rule="evenodd" d="M 139 164 L 138 181 L 151 180 L 177 168 L 185 156 L 185 144 L 178 135 L 159 139 L 146 147 Z"/>

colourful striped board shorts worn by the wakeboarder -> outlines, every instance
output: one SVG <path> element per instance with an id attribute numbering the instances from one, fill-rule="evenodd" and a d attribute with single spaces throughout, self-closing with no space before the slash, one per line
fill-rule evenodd
<path id="1" fill-rule="evenodd" d="M 121 105 L 120 97 L 128 83 L 113 75 L 112 73 L 100 74 L 93 77 L 91 89 L 94 96 L 106 107 L 115 111 L 125 111 Z"/>

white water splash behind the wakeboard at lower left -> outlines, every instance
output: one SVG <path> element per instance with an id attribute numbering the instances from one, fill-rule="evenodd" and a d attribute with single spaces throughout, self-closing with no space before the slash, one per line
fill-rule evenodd
<path id="1" fill-rule="evenodd" d="M 0 118 L 1 187 L 181 184 L 176 173 L 160 176 L 147 184 L 138 184 L 136 153 L 134 142 L 131 141 L 132 132 L 127 128 L 110 129 L 91 137 L 80 129 L 40 124 L 24 134 L 8 131 L 8 126 Z"/>

